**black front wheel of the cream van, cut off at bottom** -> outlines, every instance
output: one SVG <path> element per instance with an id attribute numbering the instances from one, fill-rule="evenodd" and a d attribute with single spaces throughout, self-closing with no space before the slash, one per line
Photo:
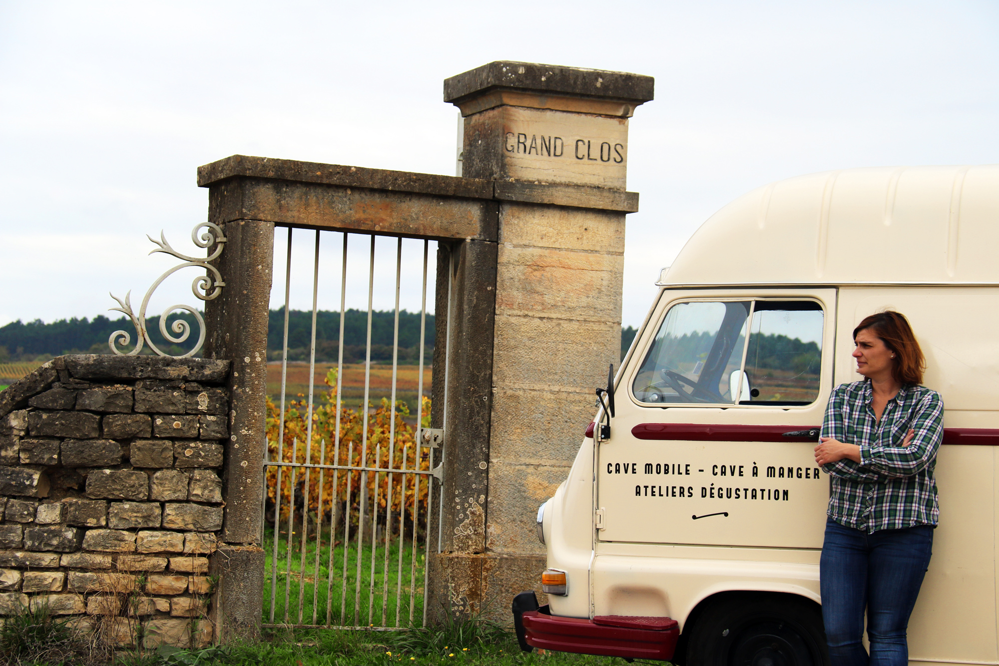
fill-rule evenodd
<path id="1" fill-rule="evenodd" d="M 822 611 L 793 595 L 724 595 L 692 628 L 688 666 L 829 666 Z"/>

